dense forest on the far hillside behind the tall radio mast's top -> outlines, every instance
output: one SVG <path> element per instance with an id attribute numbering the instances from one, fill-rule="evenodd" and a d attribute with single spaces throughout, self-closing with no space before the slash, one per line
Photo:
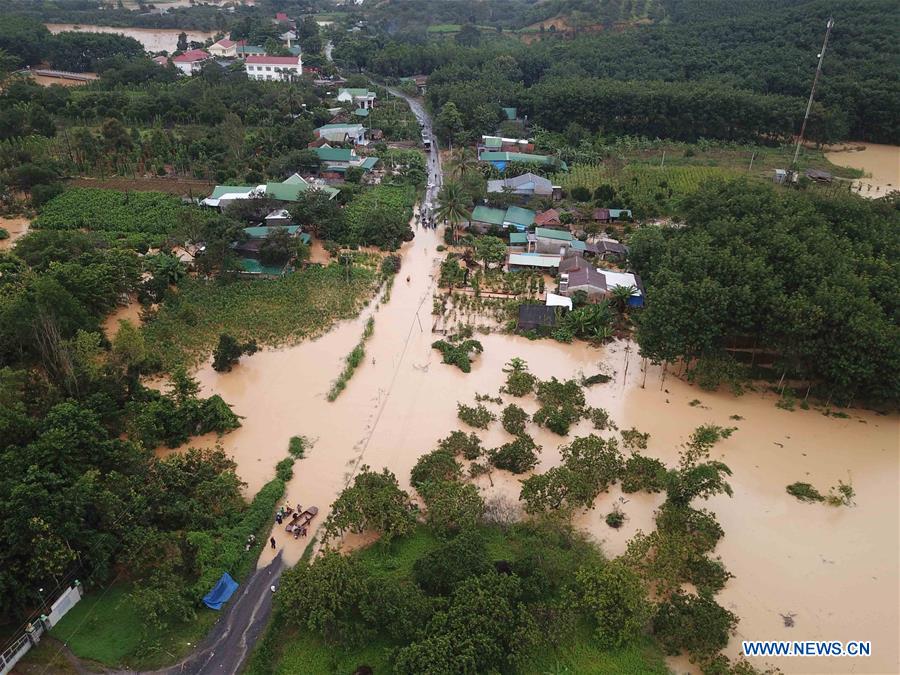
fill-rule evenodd
<path id="1" fill-rule="evenodd" d="M 545 34 L 527 46 L 477 29 L 465 40 L 347 38 L 335 56 L 385 76 L 430 74 L 431 105 L 453 101 L 478 133 L 488 130 L 475 109 L 504 105 L 555 130 L 577 123 L 609 134 L 767 140 L 798 131 L 834 14 L 809 137 L 900 140 L 900 84 L 891 75 L 900 26 L 890 2 L 742 3 L 724 17 L 715 7 L 679 3 L 665 24 Z"/>

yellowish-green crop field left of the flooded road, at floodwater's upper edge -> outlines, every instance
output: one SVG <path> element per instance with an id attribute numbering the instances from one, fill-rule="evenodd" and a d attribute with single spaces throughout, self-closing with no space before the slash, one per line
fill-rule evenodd
<path id="1" fill-rule="evenodd" d="M 375 290 L 374 269 L 355 266 L 349 282 L 345 274 L 332 265 L 271 280 L 185 279 L 143 328 L 151 356 L 168 370 L 202 360 L 223 332 L 269 347 L 320 335 Z"/>

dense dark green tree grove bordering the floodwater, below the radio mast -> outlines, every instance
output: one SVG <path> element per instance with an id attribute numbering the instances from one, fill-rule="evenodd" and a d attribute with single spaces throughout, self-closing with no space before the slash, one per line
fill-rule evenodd
<path id="1" fill-rule="evenodd" d="M 896 209 L 745 181 L 707 184 L 682 207 L 684 227 L 630 240 L 647 286 L 645 357 L 683 360 L 713 387 L 740 388 L 764 365 L 801 395 L 900 403 Z"/>

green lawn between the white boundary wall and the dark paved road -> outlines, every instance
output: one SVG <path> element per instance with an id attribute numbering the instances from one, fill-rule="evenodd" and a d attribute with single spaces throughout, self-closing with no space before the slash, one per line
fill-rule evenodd
<path id="1" fill-rule="evenodd" d="M 130 587 L 116 584 L 82 598 L 50 634 L 68 644 L 79 658 L 106 666 L 158 668 L 191 651 L 218 617 L 201 609 L 197 620 L 174 624 L 162 632 L 149 625 L 130 602 Z"/>

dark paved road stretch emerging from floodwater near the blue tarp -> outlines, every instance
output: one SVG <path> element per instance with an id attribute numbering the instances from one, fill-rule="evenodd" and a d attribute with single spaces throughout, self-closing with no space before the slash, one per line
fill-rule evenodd
<path id="1" fill-rule="evenodd" d="M 222 611 L 222 616 L 197 651 L 171 668 L 154 675 L 212 675 L 240 672 L 272 613 L 272 590 L 278 586 L 284 564 L 281 552 L 267 567 L 244 581 Z"/>

